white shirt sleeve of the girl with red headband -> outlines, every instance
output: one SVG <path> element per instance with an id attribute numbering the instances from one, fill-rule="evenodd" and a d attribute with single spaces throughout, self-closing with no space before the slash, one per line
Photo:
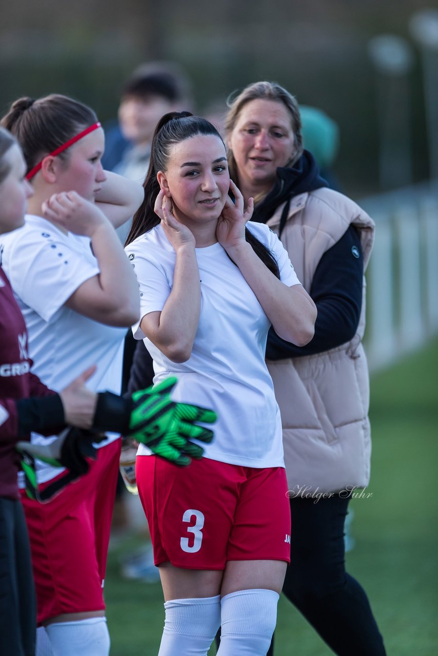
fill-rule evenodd
<path id="1" fill-rule="evenodd" d="M 23 230 L 9 252 L 14 293 L 44 321 L 50 321 L 83 282 L 99 274 L 91 251 L 71 248 L 63 237 L 55 230 Z"/>

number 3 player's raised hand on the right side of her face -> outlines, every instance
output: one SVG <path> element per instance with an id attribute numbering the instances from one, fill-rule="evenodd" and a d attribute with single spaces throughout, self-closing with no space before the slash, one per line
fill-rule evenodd
<path id="1" fill-rule="evenodd" d="M 250 198 L 248 207 L 244 211 L 244 197 L 232 180 L 230 180 L 230 190 L 234 195 L 235 203 L 227 196 L 216 228 L 217 241 L 227 253 L 245 243 L 246 222 L 252 217 L 254 209 L 253 198 Z"/>

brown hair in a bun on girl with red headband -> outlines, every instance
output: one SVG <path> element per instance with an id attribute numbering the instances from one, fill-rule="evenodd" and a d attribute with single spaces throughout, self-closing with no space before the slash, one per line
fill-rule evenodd
<path id="1" fill-rule="evenodd" d="M 38 100 L 19 98 L 0 125 L 16 136 L 29 172 L 44 155 L 96 122 L 97 116 L 91 108 L 68 96 L 51 94 Z M 68 150 L 58 155 L 64 161 L 69 156 Z"/>

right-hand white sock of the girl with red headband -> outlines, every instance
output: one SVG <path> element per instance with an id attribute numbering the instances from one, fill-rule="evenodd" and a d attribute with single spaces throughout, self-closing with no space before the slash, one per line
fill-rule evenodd
<path id="1" fill-rule="evenodd" d="M 55 622 L 45 627 L 54 656 L 108 656 L 110 635 L 106 617 Z"/>

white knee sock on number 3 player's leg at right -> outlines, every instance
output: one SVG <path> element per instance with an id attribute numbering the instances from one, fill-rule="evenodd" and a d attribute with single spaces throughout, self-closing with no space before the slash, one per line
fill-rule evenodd
<path id="1" fill-rule="evenodd" d="M 266 656 L 279 598 L 274 590 L 239 590 L 225 595 L 217 656 Z"/>

